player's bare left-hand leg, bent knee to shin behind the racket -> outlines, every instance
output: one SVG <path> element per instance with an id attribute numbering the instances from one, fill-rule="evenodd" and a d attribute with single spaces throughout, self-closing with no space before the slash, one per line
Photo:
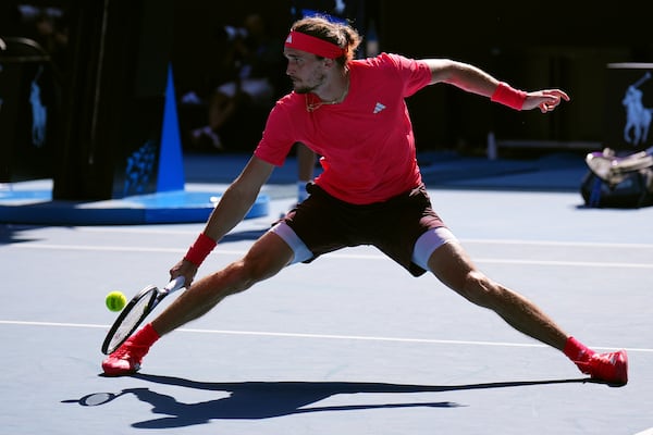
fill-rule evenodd
<path id="1" fill-rule="evenodd" d="M 159 335 L 167 334 L 206 314 L 225 297 L 275 275 L 292 258 L 281 237 L 266 233 L 243 259 L 193 283 L 151 324 Z"/>

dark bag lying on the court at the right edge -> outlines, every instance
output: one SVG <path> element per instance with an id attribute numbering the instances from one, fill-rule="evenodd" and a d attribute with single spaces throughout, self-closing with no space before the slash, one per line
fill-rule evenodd
<path id="1" fill-rule="evenodd" d="M 653 169 L 628 172 L 614 185 L 589 171 L 581 182 L 580 192 L 586 206 L 592 208 L 638 209 L 653 206 Z"/>

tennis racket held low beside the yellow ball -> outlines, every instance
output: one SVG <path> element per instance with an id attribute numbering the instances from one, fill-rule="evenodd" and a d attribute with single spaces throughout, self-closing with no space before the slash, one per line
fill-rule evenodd
<path id="1" fill-rule="evenodd" d="M 177 276 L 162 289 L 150 285 L 134 296 L 130 303 L 120 312 L 109 333 L 107 333 L 104 343 L 102 343 L 102 353 L 109 355 L 118 349 L 164 297 L 183 286 L 184 277 Z"/>

